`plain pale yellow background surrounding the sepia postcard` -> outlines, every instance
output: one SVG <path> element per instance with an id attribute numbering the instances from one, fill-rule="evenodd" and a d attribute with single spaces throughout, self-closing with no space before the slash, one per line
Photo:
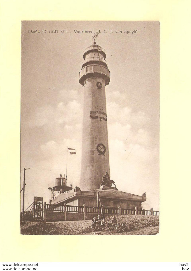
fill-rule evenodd
<path id="1" fill-rule="evenodd" d="M 160 21 L 160 234 L 20 235 L 21 20 Z M 190 48 L 189 0 L 2 1 L 2 262 L 191 261 Z"/>

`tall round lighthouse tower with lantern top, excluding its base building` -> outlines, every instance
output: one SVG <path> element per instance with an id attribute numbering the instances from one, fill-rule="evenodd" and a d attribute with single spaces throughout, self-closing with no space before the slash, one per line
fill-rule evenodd
<path id="1" fill-rule="evenodd" d="M 80 189 L 99 189 L 102 176 L 109 173 L 109 148 L 105 86 L 110 72 L 105 50 L 94 43 L 83 51 L 79 82 L 83 86 L 83 131 Z"/>

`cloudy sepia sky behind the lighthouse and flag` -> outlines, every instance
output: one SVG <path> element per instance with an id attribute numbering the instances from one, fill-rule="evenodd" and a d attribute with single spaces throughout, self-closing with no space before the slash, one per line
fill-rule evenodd
<path id="1" fill-rule="evenodd" d="M 22 22 L 21 170 L 30 168 L 25 171 L 25 209 L 34 196 L 49 202 L 48 187 L 66 174 L 67 146 L 77 150 L 68 155 L 67 185 L 80 186 L 79 71 L 93 34 L 76 30 L 100 32 L 96 43 L 106 50 L 110 177 L 119 191 L 146 192 L 143 208 L 159 210 L 160 25 L 152 21 Z"/>

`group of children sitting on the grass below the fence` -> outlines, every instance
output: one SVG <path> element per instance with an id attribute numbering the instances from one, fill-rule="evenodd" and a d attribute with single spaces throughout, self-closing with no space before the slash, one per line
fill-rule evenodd
<path id="1" fill-rule="evenodd" d="M 126 233 L 128 231 L 125 223 L 117 223 L 116 217 L 112 218 L 111 223 L 106 222 L 105 217 L 101 218 L 101 215 L 98 215 L 98 218 L 94 217 L 92 220 L 92 230 L 93 231 L 101 231 L 105 228 L 108 229 L 116 229 L 116 233 Z"/>

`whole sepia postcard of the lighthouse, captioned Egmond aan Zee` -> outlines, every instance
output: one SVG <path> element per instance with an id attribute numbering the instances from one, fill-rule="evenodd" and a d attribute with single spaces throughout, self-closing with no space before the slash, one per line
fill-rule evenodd
<path id="1" fill-rule="evenodd" d="M 159 234 L 159 90 L 158 21 L 22 21 L 21 234 Z"/>

